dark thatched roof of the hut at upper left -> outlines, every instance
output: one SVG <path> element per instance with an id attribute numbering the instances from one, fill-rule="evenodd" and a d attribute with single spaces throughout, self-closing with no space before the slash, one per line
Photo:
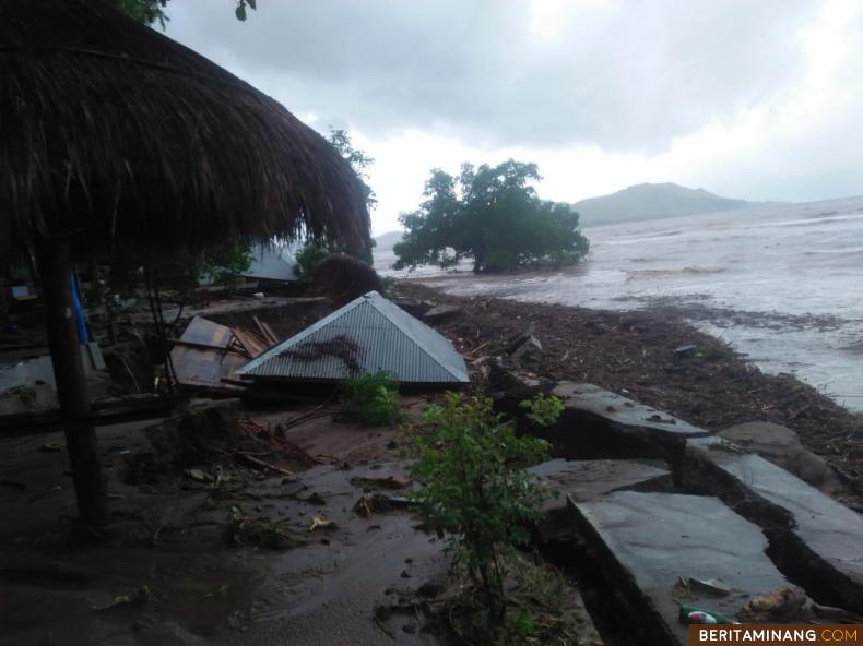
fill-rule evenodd
<path id="1" fill-rule="evenodd" d="M 0 0 L 0 247 L 364 247 L 368 219 L 332 146 L 208 59 L 98 0 Z"/>

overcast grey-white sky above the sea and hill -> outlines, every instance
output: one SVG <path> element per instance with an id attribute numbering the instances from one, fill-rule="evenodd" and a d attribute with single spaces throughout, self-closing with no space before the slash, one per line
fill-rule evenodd
<path id="1" fill-rule="evenodd" d="M 376 159 L 376 235 L 432 168 L 536 162 L 543 198 L 646 181 L 863 193 L 858 0 L 173 0 L 167 35 Z"/>

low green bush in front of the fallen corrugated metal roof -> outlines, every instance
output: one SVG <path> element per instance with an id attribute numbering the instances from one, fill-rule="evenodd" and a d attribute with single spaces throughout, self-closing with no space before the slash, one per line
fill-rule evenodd
<path id="1" fill-rule="evenodd" d="M 385 370 L 360 374 L 342 382 L 341 417 L 350 421 L 382 427 L 402 419 L 402 398 L 395 375 Z"/>

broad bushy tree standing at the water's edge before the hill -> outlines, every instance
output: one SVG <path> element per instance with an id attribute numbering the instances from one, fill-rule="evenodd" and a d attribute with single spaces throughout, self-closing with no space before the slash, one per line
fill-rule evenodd
<path id="1" fill-rule="evenodd" d="M 513 159 L 494 167 L 465 164 L 458 178 L 433 170 L 427 200 L 400 218 L 406 232 L 393 247 L 393 267 L 447 268 L 472 259 L 475 272 L 500 272 L 582 260 L 589 243 L 578 230 L 578 213 L 541 200 L 530 186 L 540 179 L 535 164 Z"/>

